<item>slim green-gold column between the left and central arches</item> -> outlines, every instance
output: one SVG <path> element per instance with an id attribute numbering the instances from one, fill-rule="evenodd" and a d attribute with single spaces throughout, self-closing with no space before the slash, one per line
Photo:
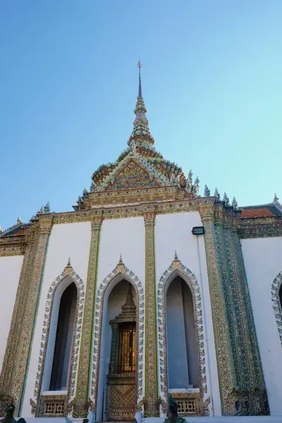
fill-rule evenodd
<path id="1" fill-rule="evenodd" d="M 102 214 L 95 216 L 91 223 L 91 243 L 87 271 L 87 286 L 80 343 L 80 359 L 78 364 L 78 382 L 76 396 L 73 403 L 73 417 L 87 417 L 90 406 L 90 358 L 92 349 L 92 335 L 94 324 L 94 298 L 97 281 L 99 240 L 102 226 Z M 92 411 L 96 410 L 96 401 Z"/>

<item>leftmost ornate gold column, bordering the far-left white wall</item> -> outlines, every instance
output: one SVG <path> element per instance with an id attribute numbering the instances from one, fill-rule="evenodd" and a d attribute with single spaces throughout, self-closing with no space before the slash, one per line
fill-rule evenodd
<path id="1" fill-rule="evenodd" d="M 10 332 L 6 345 L 6 352 L 0 376 L 0 391 L 11 394 L 13 388 L 13 376 L 15 372 L 15 362 L 19 351 L 20 334 L 23 331 L 23 317 L 25 314 L 27 291 L 30 282 L 33 260 L 35 257 L 36 236 L 38 234 L 38 226 L 31 225 L 25 230 L 26 248 L 23 257 L 23 265 L 20 271 L 20 280 L 18 282 L 18 290 L 13 307 L 13 315 L 11 319 Z"/>

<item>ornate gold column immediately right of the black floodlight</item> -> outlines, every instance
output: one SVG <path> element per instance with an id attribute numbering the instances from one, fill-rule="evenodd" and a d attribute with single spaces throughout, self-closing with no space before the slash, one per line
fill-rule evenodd
<path id="1" fill-rule="evenodd" d="M 219 371 L 219 388 L 223 415 L 233 412 L 230 393 L 233 389 L 231 352 L 226 323 L 226 309 L 223 298 L 220 259 L 216 252 L 216 233 L 214 227 L 214 204 L 200 204 L 199 211 L 204 226 L 204 244 L 209 275 L 209 292 L 212 302 L 212 319 L 216 344 L 216 360 Z"/>

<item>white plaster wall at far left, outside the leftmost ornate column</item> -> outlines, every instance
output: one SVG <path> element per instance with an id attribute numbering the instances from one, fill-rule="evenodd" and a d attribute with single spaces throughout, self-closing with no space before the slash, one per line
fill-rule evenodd
<path id="1" fill-rule="evenodd" d="M 16 300 L 23 255 L 0 257 L 0 374 Z"/>

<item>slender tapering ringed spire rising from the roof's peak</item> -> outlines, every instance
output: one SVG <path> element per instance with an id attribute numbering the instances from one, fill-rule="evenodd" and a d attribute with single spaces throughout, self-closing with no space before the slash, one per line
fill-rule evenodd
<path id="1" fill-rule="evenodd" d="M 133 133 L 130 135 L 128 140 L 128 145 L 134 140 L 135 144 L 143 144 L 148 142 L 151 145 L 154 145 L 154 138 L 152 137 L 149 131 L 149 122 L 146 118 L 147 109 L 145 106 L 144 99 L 142 97 L 142 83 L 141 83 L 141 68 L 142 63 L 138 61 L 137 64 L 139 68 L 139 86 L 138 86 L 138 97 L 137 103 L 135 106 L 134 113 L 136 115 L 135 121 L 133 122 Z"/>

